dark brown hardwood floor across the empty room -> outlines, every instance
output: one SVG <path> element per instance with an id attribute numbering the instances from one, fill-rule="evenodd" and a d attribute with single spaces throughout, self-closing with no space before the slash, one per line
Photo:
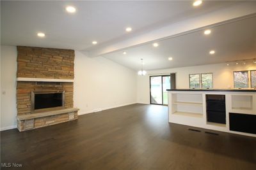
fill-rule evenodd
<path id="1" fill-rule="evenodd" d="M 132 104 L 41 129 L 2 131 L 1 163 L 22 164 L 19 169 L 256 169 L 256 138 L 189 128 L 169 124 L 166 106 Z"/>

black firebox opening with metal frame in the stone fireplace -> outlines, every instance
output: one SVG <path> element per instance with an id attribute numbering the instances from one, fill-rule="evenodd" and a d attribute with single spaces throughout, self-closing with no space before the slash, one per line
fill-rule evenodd
<path id="1" fill-rule="evenodd" d="M 33 91 L 31 92 L 31 111 L 46 111 L 64 108 L 65 91 Z"/>

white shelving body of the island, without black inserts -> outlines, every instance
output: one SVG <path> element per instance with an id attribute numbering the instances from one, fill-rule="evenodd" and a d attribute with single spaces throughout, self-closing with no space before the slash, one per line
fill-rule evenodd
<path id="1" fill-rule="evenodd" d="M 225 95 L 226 124 L 207 122 L 205 100 L 207 94 Z M 229 126 L 229 113 L 256 115 L 256 92 L 254 91 L 169 90 L 168 107 L 169 122 L 256 137 L 256 134 L 230 131 Z"/>

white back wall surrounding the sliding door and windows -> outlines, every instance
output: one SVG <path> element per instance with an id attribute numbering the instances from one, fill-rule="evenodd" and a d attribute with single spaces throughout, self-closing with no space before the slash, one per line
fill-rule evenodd
<path id="1" fill-rule="evenodd" d="M 148 71 L 147 76 L 137 76 L 137 101 L 138 103 L 150 103 L 149 96 L 149 76 L 158 74 L 176 73 L 176 88 L 189 88 L 189 74 L 193 73 L 213 73 L 213 88 L 214 89 L 231 89 L 234 87 L 233 71 L 253 70 L 256 69 L 256 64 L 236 64 L 232 63 L 227 66 L 225 63 L 209 64 L 193 67 L 179 67 L 173 69 L 162 69 L 156 71 Z"/>

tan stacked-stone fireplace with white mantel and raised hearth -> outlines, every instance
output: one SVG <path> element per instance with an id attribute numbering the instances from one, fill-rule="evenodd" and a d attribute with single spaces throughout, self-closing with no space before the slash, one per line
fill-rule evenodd
<path id="1" fill-rule="evenodd" d="M 76 120 L 74 50 L 17 46 L 17 52 L 19 131 Z"/>

